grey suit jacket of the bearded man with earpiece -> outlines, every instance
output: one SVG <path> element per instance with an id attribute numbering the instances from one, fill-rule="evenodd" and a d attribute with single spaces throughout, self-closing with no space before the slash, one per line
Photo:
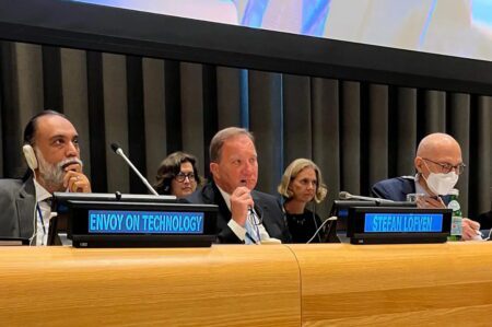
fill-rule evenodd
<path id="1" fill-rule="evenodd" d="M 33 236 L 34 206 L 36 202 L 33 178 L 0 179 L 0 236 Z"/>

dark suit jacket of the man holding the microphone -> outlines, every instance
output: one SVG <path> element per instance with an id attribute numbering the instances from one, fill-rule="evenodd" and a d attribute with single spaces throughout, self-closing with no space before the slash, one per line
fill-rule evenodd
<path id="1" fill-rule="evenodd" d="M 255 210 L 262 218 L 262 224 L 270 237 L 278 238 L 282 243 L 291 242 L 291 236 L 285 223 L 285 218 L 280 202 L 272 196 L 253 190 Z M 191 203 L 218 205 L 216 217 L 218 243 L 243 243 L 236 234 L 227 226 L 231 220 L 231 211 L 225 203 L 219 188 L 214 183 L 209 183 L 203 188 L 196 190 L 186 198 Z"/>

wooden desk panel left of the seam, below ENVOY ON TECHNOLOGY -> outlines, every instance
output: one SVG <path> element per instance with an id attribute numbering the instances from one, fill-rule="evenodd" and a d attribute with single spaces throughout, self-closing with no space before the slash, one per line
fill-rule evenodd
<path id="1" fill-rule="evenodd" d="M 284 246 L 0 248 L 0 325 L 300 326 Z"/>

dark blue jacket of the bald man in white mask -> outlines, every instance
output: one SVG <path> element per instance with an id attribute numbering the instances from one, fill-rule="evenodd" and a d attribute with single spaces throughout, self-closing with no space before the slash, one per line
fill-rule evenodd
<path id="1" fill-rule="evenodd" d="M 373 195 L 394 201 L 407 201 L 407 195 L 415 192 L 415 179 L 412 176 L 385 179 L 374 184 Z"/>

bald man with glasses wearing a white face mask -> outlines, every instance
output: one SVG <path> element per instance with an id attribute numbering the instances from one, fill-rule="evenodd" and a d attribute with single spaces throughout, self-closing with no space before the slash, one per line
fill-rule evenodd
<path id="1" fill-rule="evenodd" d="M 402 176 L 376 183 L 373 194 L 383 199 L 406 201 L 408 194 L 424 194 L 418 200 L 423 208 L 445 208 L 447 195 L 458 183 L 465 170 L 461 148 L 446 133 L 431 133 L 420 141 L 414 159 L 415 176 Z M 471 240 L 479 233 L 480 224 L 462 220 L 462 238 Z"/>

